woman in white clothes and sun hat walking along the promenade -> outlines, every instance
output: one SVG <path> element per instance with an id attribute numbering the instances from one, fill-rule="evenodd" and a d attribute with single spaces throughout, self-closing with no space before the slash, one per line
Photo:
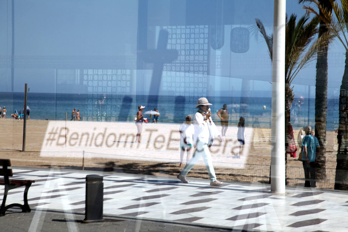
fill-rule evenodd
<path id="1" fill-rule="evenodd" d="M 223 142 L 224 139 L 217 130 L 212 118 L 211 112 L 209 110 L 209 105 L 212 105 L 208 102 L 207 98 L 201 97 L 197 101 L 195 107 L 198 108 L 197 113 L 195 114 L 195 134 L 193 135 L 194 145 L 196 147 L 195 153 L 193 153 L 192 158 L 186 164 L 184 169 L 181 171 L 177 178 L 179 178 L 184 183 L 189 183 L 186 180 L 186 175 L 189 173 L 191 168 L 197 163 L 200 157 L 203 157 L 205 166 L 210 177 L 210 185 L 220 185 L 221 181 L 216 179 L 212 156 L 209 152 L 209 148 L 213 144 L 214 137 L 219 136 L 220 141 Z"/>

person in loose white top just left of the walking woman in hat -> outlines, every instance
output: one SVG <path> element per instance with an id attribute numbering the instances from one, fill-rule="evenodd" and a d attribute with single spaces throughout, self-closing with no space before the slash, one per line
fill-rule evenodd
<path id="1" fill-rule="evenodd" d="M 181 123 L 180 131 L 180 167 L 184 158 L 185 149 L 187 152 L 186 162 L 191 159 L 191 147 L 193 144 L 193 134 L 195 133 L 194 126 L 191 124 L 191 116 L 186 116 L 186 121 Z"/>

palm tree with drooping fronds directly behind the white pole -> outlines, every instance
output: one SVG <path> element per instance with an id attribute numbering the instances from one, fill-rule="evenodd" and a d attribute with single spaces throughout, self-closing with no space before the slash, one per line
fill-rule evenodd
<path id="1" fill-rule="evenodd" d="M 291 82 L 298 72 L 314 58 L 317 50 L 325 45 L 330 38 L 329 33 L 315 39 L 318 33 L 319 17 L 309 20 L 308 15 L 302 16 L 296 23 L 296 15 L 290 18 L 286 15 L 285 21 L 285 147 L 288 143 L 288 125 L 290 125 L 290 107 L 294 100 Z M 273 35 L 268 35 L 260 19 L 255 19 L 264 40 L 266 41 L 269 56 L 272 60 Z M 287 167 L 287 155 L 285 153 L 285 171 Z M 286 176 L 286 173 L 285 173 Z M 286 178 L 286 177 L 285 177 Z"/>

